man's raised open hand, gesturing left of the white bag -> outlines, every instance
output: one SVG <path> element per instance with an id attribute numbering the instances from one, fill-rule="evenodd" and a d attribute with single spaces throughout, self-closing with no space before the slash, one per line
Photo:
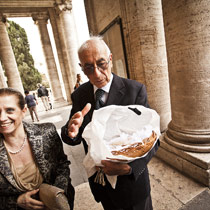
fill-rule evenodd
<path id="1" fill-rule="evenodd" d="M 84 116 L 90 111 L 90 109 L 91 109 L 91 104 L 88 103 L 81 112 L 77 112 L 72 116 L 68 124 L 69 137 L 74 138 L 77 136 L 79 128 L 81 127 L 82 122 L 84 120 Z"/>

